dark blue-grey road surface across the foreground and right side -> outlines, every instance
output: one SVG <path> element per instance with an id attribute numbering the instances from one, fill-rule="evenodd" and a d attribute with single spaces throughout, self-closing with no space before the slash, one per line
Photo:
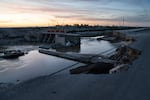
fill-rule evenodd
<path id="1" fill-rule="evenodd" d="M 20 83 L 0 93 L 0 100 L 149 100 L 150 30 L 135 32 L 142 55 L 117 74 L 70 75 L 69 70 Z M 75 68 L 77 66 L 73 66 Z"/>

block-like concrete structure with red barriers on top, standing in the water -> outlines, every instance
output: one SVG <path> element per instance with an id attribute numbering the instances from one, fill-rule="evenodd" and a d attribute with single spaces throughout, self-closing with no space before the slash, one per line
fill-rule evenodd
<path id="1" fill-rule="evenodd" d="M 43 42 L 62 46 L 80 45 L 80 36 L 78 34 L 66 33 L 64 30 L 48 30 L 48 32 L 42 34 Z"/>

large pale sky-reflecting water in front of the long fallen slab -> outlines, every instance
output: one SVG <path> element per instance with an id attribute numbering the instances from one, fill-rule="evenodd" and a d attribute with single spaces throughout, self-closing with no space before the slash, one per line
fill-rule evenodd
<path id="1" fill-rule="evenodd" d="M 40 75 L 48 75 L 73 65 L 75 62 L 40 54 L 34 50 L 16 61 L 4 60 L 0 63 L 2 65 L 0 66 L 2 68 L 0 82 L 15 82 L 16 80 L 27 80 Z"/>

